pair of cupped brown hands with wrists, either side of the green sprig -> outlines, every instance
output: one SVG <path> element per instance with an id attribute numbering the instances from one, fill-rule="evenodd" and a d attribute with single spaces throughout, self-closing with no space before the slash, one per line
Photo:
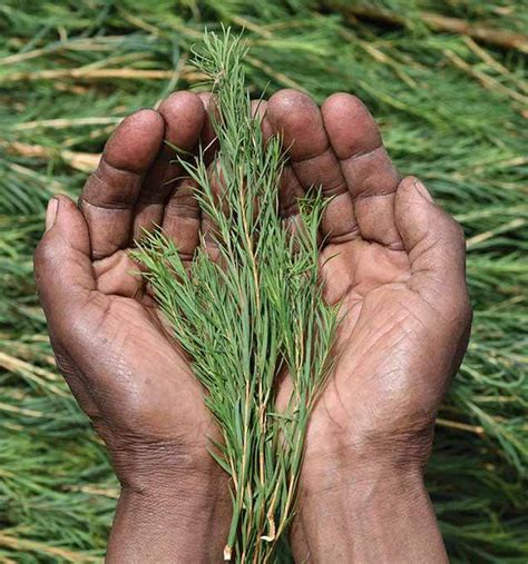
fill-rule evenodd
<path id="1" fill-rule="evenodd" d="M 127 254 L 156 224 L 192 260 L 207 225 L 164 140 L 187 151 L 211 144 L 211 107 L 209 96 L 179 91 L 126 118 L 79 206 L 50 200 L 36 253 L 57 364 L 123 486 L 110 562 L 215 562 L 231 517 L 203 389 Z M 320 109 L 282 90 L 256 109 L 289 147 L 285 220 L 295 224 L 312 185 L 333 196 L 321 275 L 325 299 L 343 304 L 335 369 L 306 437 L 295 558 L 443 562 L 422 468 L 469 337 L 462 230 L 418 179 L 399 177 L 356 98 L 336 93 Z"/>

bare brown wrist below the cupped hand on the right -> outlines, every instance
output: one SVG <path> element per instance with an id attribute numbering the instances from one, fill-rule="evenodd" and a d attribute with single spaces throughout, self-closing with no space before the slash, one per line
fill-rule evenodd
<path id="1" fill-rule="evenodd" d="M 387 459 L 303 476 L 292 548 L 297 562 L 447 562 L 421 465 Z"/>

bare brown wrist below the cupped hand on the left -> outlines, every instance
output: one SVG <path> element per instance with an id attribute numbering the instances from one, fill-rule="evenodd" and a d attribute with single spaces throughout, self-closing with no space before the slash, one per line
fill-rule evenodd
<path id="1" fill-rule="evenodd" d="M 222 471 L 137 477 L 123 485 L 107 562 L 221 562 L 231 520 Z"/>

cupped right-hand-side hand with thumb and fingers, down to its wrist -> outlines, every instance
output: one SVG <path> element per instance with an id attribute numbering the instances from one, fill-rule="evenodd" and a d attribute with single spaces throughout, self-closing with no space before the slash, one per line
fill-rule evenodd
<path id="1" fill-rule="evenodd" d="M 327 520 L 334 544 L 325 544 L 329 504 L 350 487 L 373 497 L 384 481 L 420 476 L 429 458 L 436 414 L 469 338 L 465 238 L 423 184 L 400 178 L 358 98 L 336 93 L 319 109 L 306 95 L 283 90 L 270 99 L 264 127 L 289 148 L 286 219 L 297 224 L 295 200 L 312 187 L 331 197 L 321 275 L 325 299 L 341 304 L 341 324 L 335 368 L 309 426 L 294 538 L 303 558 L 324 545 L 325 556 L 314 560 L 349 562 L 332 546 L 361 527 L 349 530 L 350 514 Z M 327 493 L 333 502 L 325 504 Z M 372 561 L 385 562 L 382 553 Z M 399 562 L 397 552 L 387 561 Z"/>

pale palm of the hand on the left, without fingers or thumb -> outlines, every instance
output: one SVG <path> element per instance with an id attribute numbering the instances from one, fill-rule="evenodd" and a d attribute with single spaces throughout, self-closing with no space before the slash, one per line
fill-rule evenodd
<path id="1" fill-rule="evenodd" d="M 118 251 L 121 253 L 125 251 Z M 127 263 L 128 259 L 119 260 L 107 270 L 116 285 L 129 284 L 134 265 L 126 269 Z M 98 283 L 99 268 L 100 264 L 96 264 Z M 97 305 L 92 328 L 86 314 L 84 330 L 89 337 L 82 343 L 82 355 L 90 356 L 90 369 L 106 376 L 101 385 L 107 389 L 99 389 L 106 399 L 97 402 L 100 413 L 96 419 L 117 422 L 121 432 L 143 435 L 144 439 L 172 442 L 185 437 L 193 446 L 203 444 L 209 419 L 202 390 L 186 358 L 165 333 L 148 296 L 129 298 L 101 291 L 99 299 L 105 309 Z M 107 313 L 99 321 L 101 310 Z M 108 342 L 113 347 L 104 346 Z M 108 431 L 99 424 L 104 436 Z"/>

